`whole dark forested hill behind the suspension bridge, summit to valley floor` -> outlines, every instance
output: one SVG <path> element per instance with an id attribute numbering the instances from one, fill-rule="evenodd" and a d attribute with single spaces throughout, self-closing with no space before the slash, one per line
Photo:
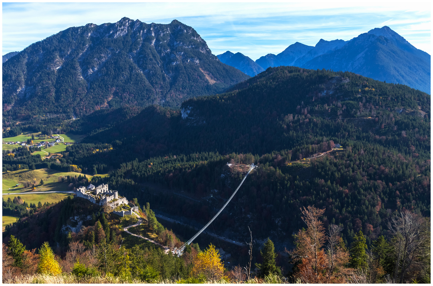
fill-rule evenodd
<path id="1" fill-rule="evenodd" d="M 71 129 L 92 122 L 84 118 Z M 215 222 L 220 230 L 237 233 L 251 223 L 260 237 L 290 240 L 301 224 L 297 210 L 316 205 L 326 207 L 326 221 L 344 225 L 347 243 L 359 229 L 369 243 L 396 210 L 430 214 L 430 96 L 349 72 L 268 68 L 229 93 L 194 98 L 181 109 L 147 107 L 89 134 L 68 146 L 65 166 L 118 169 L 108 179 L 116 188 L 201 223 L 240 182 L 241 172 L 226 162 L 259 164 Z M 335 143 L 344 150 L 294 163 Z M 221 199 L 195 203 L 141 192 L 146 182 Z"/>

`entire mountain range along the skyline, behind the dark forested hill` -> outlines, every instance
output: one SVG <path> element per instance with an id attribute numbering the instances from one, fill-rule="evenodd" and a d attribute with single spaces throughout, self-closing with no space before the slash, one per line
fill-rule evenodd
<path id="1" fill-rule="evenodd" d="M 177 20 L 146 24 L 124 17 L 71 27 L 3 55 L 3 118 L 58 121 L 101 108 L 180 106 L 280 65 L 352 71 L 430 93 L 430 55 L 388 26 L 349 41 L 296 42 L 254 62 L 239 52 L 213 55 Z"/>

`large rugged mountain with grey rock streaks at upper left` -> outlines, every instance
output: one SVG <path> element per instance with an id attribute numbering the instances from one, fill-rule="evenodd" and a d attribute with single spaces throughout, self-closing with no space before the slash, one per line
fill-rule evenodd
<path id="1" fill-rule="evenodd" d="M 249 78 L 177 20 L 71 27 L 3 65 L 3 116 L 72 118 L 120 106 L 176 106 Z"/>

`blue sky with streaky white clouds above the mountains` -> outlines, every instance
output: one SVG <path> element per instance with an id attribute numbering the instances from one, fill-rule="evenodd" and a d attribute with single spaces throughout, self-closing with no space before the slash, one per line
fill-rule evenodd
<path id="1" fill-rule="evenodd" d="M 253 60 L 295 42 L 349 40 L 385 25 L 430 54 L 429 1 L 352 2 L 2 3 L 2 52 L 21 51 L 71 26 L 128 17 L 163 24 L 176 19 L 193 27 L 214 55 L 229 50 Z"/>

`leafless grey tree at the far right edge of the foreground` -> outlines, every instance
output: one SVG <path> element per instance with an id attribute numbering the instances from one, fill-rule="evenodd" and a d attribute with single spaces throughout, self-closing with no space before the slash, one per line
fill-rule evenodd
<path id="1" fill-rule="evenodd" d="M 403 283 L 413 264 L 422 263 L 420 258 L 430 254 L 429 225 L 422 216 L 404 210 L 390 219 L 388 229 L 394 237 L 396 255 L 392 282 Z"/>

